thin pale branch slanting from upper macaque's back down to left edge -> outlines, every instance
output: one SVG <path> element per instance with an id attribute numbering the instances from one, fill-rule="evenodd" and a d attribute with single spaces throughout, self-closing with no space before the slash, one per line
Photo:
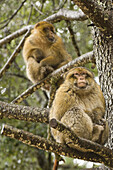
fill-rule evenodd
<path id="1" fill-rule="evenodd" d="M 20 43 L 18 44 L 18 46 L 16 47 L 15 51 L 12 53 L 12 55 L 10 56 L 10 58 L 8 59 L 8 61 L 6 62 L 6 64 L 3 66 L 3 68 L 0 70 L 0 78 L 3 76 L 3 74 L 7 71 L 7 69 L 10 67 L 10 65 L 12 64 L 12 62 L 14 61 L 15 57 L 17 56 L 17 54 L 20 52 L 20 50 L 22 49 L 23 43 L 25 41 L 25 38 L 29 35 L 30 30 L 27 31 L 27 33 L 25 34 L 25 36 L 22 38 L 22 40 L 20 41 Z"/>

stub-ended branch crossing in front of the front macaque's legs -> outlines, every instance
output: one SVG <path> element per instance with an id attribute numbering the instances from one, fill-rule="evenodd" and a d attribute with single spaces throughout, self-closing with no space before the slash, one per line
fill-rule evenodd
<path id="1" fill-rule="evenodd" d="M 51 119 L 50 126 L 67 135 L 72 140 L 73 144 L 78 145 L 82 149 L 86 149 L 87 151 L 103 156 L 105 159 L 111 158 L 110 161 L 113 163 L 113 151 L 109 148 L 78 137 L 69 127 L 66 127 L 56 119 Z"/>

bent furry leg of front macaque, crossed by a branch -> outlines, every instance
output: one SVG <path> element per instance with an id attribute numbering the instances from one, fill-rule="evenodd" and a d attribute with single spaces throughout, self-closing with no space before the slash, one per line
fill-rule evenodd
<path id="1" fill-rule="evenodd" d="M 71 128 L 71 130 L 77 136 L 89 140 L 92 139 L 93 123 L 91 118 L 82 109 L 79 109 L 77 107 L 71 108 L 64 114 L 61 122 Z M 75 145 L 73 141 L 71 141 L 71 139 L 69 139 L 63 133 L 53 130 L 53 135 L 55 136 L 57 142 L 67 144 L 72 148 L 84 151 L 78 146 L 78 144 Z"/>

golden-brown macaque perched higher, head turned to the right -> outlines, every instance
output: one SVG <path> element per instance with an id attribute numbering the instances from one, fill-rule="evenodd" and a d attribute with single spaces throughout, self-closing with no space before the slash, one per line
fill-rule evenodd
<path id="1" fill-rule="evenodd" d="M 54 26 L 46 21 L 38 22 L 25 40 L 23 58 L 27 76 L 33 83 L 72 60 Z"/>

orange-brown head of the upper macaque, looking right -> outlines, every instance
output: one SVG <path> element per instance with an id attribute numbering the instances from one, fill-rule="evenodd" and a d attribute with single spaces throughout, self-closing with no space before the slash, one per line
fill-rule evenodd
<path id="1" fill-rule="evenodd" d="M 40 35 L 46 37 L 46 40 L 50 43 L 56 42 L 55 28 L 52 24 L 41 21 L 35 25 L 35 29 L 40 32 Z"/>

